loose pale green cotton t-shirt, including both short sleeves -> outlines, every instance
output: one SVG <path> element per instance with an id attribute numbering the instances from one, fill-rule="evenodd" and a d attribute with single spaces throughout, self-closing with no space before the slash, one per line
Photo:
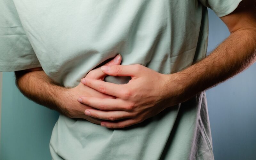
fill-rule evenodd
<path id="1" fill-rule="evenodd" d="M 178 72 L 206 56 L 206 7 L 221 17 L 240 1 L 0 0 L 0 71 L 42 66 L 75 87 L 120 53 L 123 65 Z M 54 160 L 214 159 L 205 92 L 123 129 L 60 115 L 50 151 Z"/>

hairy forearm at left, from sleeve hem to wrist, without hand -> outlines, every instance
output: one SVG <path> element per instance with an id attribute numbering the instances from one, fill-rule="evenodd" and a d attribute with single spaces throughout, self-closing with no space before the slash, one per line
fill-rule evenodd
<path id="1" fill-rule="evenodd" d="M 66 88 L 52 81 L 43 70 L 23 72 L 15 72 L 16 85 L 23 95 L 40 105 L 68 116 L 67 110 L 61 104 L 65 99 L 63 95 L 67 94 Z"/>

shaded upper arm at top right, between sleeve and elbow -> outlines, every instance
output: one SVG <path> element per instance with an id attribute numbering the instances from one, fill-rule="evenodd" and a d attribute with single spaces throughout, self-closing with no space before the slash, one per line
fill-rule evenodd
<path id="1" fill-rule="evenodd" d="M 232 13 L 220 19 L 227 25 L 230 33 L 244 29 L 256 31 L 256 1 L 243 0 Z"/>

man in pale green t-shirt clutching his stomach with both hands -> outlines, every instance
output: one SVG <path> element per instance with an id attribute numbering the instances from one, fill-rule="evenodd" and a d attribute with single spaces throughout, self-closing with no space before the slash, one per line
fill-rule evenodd
<path id="1" fill-rule="evenodd" d="M 214 159 L 205 90 L 255 61 L 255 1 L 2 4 L 0 69 L 61 113 L 53 159 Z M 231 33 L 207 57 L 206 7 Z"/>

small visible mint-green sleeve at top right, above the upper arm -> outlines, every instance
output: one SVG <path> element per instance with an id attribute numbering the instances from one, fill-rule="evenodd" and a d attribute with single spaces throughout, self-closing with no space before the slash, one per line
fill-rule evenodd
<path id="1" fill-rule="evenodd" d="M 242 0 L 200 0 L 200 2 L 211 8 L 219 17 L 233 12 Z"/>

